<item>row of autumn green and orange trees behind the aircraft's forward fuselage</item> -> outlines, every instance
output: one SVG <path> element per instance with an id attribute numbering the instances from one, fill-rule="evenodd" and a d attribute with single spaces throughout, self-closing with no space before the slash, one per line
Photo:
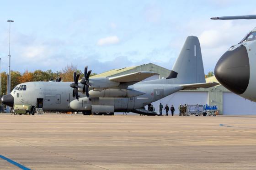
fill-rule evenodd
<path id="1" fill-rule="evenodd" d="M 15 88 L 18 84 L 23 82 L 37 82 L 44 81 L 48 82 L 51 78 L 55 81 L 56 78 L 61 77 L 64 82 L 73 82 L 73 73 L 77 72 L 80 74 L 80 78 L 84 77 L 84 71 L 76 69 L 73 64 L 67 65 L 61 71 L 52 72 L 52 70 L 35 70 L 34 72 L 25 71 L 23 73 L 11 70 L 11 90 Z M 91 73 L 91 76 L 96 75 L 96 73 Z M 1 72 L 1 96 L 5 95 L 7 92 L 7 72 Z"/>

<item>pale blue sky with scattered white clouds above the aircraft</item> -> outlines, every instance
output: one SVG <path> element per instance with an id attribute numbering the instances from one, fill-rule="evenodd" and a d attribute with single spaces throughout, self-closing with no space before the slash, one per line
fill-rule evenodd
<path id="1" fill-rule="evenodd" d="M 238 0 L 8 0 L 0 4 L 0 57 L 11 69 L 61 70 L 73 63 L 100 73 L 155 63 L 171 69 L 187 36 L 201 42 L 205 72 L 256 26 L 256 21 L 212 21 L 212 16 L 256 14 Z"/>

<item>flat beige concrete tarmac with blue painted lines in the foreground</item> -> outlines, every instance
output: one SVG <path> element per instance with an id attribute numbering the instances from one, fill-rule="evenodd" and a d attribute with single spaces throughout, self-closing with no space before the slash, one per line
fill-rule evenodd
<path id="1" fill-rule="evenodd" d="M 255 170 L 256 116 L 0 114 L 0 170 L 26 168 Z"/>

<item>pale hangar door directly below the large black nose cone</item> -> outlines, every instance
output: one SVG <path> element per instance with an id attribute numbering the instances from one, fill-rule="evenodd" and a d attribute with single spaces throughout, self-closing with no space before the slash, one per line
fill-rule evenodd
<path id="1" fill-rule="evenodd" d="M 256 103 L 231 92 L 223 92 L 223 114 L 256 114 Z"/>

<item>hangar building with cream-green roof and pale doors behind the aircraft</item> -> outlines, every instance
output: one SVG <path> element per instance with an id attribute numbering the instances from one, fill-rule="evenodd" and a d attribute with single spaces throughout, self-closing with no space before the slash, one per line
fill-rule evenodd
<path id="1" fill-rule="evenodd" d="M 139 72 L 139 71 L 149 71 L 155 72 L 159 75 L 155 75 L 147 78 L 146 80 L 159 79 L 162 77 L 169 76 L 171 70 L 168 70 L 164 67 L 157 66 L 155 64 L 149 63 L 141 66 L 135 67 L 125 67 L 121 69 L 114 69 L 108 72 L 103 72 L 94 77 L 114 77 L 120 76 L 123 74 Z M 144 81 L 146 81 L 144 80 Z M 206 78 L 206 82 L 218 82 L 217 79 L 213 77 Z M 152 103 L 155 107 L 156 112 L 158 113 L 158 105 L 162 103 L 165 107 L 165 104 L 168 104 L 170 107 L 171 104 L 175 107 L 175 114 L 178 114 L 178 106 L 180 104 L 208 104 L 208 105 L 218 105 L 219 114 L 224 115 L 238 115 L 238 114 L 256 114 L 256 103 L 251 102 L 250 100 L 245 100 L 235 93 L 230 92 L 228 89 L 224 88 L 222 85 L 218 85 L 212 88 L 199 88 L 197 90 L 183 90 L 180 92 L 173 93 L 165 98 L 162 98 L 160 101 Z M 163 111 L 163 114 L 165 111 Z"/>

